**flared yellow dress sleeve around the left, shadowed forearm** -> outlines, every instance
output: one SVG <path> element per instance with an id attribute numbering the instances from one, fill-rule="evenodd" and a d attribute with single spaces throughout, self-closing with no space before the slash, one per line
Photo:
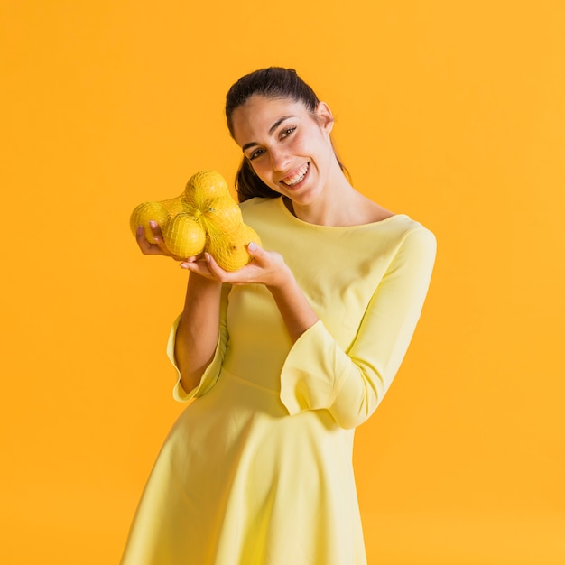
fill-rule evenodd
<path id="1" fill-rule="evenodd" d="M 179 370 L 179 366 L 177 366 L 177 361 L 174 357 L 174 345 L 177 338 L 177 329 L 179 327 L 179 322 L 181 321 L 181 316 L 178 316 L 176 320 L 174 320 L 171 333 L 169 334 L 169 341 L 167 343 L 167 357 L 172 363 L 172 366 L 177 371 L 177 382 L 172 389 L 172 397 L 180 402 L 180 403 L 188 403 L 193 398 L 198 398 L 202 396 L 216 384 L 218 381 L 218 376 L 220 370 L 222 368 L 222 363 L 224 360 L 224 354 L 226 353 L 227 348 L 227 340 L 229 338 L 227 333 L 227 326 L 226 326 L 226 310 L 227 310 L 227 295 L 231 286 L 228 284 L 224 284 L 222 288 L 221 294 L 221 303 L 220 303 L 220 320 L 219 320 L 219 336 L 218 336 L 218 344 L 216 345 L 216 351 L 214 352 L 214 357 L 212 358 L 211 363 L 206 367 L 204 374 L 200 378 L 199 384 L 197 384 L 190 393 L 186 393 L 181 386 L 181 371 Z"/>

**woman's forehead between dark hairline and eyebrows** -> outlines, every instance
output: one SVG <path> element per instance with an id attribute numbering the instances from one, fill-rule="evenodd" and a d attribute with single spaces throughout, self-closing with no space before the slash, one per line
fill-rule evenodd
<path id="1" fill-rule="evenodd" d="M 240 146 L 259 141 L 283 117 L 304 117 L 309 112 L 302 102 L 288 98 L 254 95 L 232 114 L 234 138 Z"/>

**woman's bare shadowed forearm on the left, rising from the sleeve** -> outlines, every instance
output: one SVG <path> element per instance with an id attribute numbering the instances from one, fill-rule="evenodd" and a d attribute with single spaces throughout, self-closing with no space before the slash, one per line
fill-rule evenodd
<path id="1" fill-rule="evenodd" d="M 222 285 L 190 273 L 174 355 L 181 385 L 189 393 L 199 384 L 218 344 Z"/>

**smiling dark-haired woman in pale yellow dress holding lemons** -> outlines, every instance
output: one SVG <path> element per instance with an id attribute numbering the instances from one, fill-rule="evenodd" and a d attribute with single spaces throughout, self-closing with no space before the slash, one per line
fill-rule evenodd
<path id="1" fill-rule="evenodd" d="M 400 366 L 428 289 L 429 230 L 355 190 L 333 117 L 292 69 L 227 94 L 236 189 L 262 246 L 235 273 L 190 257 L 174 396 L 123 565 L 362 565 L 355 428 Z M 169 255 L 153 224 L 145 254 Z"/>

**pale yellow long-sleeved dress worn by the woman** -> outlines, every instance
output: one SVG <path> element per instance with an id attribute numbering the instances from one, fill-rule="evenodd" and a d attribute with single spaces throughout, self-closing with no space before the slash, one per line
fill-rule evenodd
<path id="1" fill-rule="evenodd" d="M 364 565 L 352 468 L 420 316 L 436 242 L 403 214 L 315 226 L 241 205 L 320 320 L 292 344 L 263 285 L 226 287 L 216 355 L 144 489 L 122 565 Z M 176 322 L 171 330 L 172 351 Z"/>

